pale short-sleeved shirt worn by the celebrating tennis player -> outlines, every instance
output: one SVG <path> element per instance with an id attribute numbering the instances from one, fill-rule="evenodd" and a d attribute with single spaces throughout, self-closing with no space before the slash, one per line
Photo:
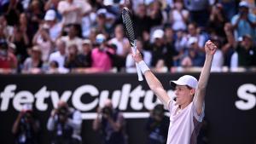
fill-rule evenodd
<path id="1" fill-rule="evenodd" d="M 204 105 L 201 115 L 198 115 L 193 101 L 180 112 L 177 112 L 178 106 L 175 106 L 175 103 L 175 101 L 168 103 L 171 115 L 167 144 L 196 144 L 204 118 Z"/>

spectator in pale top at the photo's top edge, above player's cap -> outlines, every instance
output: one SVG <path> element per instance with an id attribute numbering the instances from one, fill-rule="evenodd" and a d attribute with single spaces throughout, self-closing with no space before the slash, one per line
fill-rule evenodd
<path id="1" fill-rule="evenodd" d="M 170 12 L 170 22 L 172 29 L 187 30 L 187 22 L 189 21 L 189 11 L 183 8 L 183 0 L 176 0 L 174 8 Z"/>

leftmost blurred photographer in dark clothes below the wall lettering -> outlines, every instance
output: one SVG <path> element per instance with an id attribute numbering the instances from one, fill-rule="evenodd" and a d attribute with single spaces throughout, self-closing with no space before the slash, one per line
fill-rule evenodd
<path id="1" fill-rule="evenodd" d="M 22 107 L 12 133 L 15 135 L 15 144 L 38 144 L 39 121 L 32 112 L 32 105 Z"/>

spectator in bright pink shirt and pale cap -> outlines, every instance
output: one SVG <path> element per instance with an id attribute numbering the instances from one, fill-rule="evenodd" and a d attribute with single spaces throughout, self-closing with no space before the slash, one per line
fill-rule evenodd
<path id="1" fill-rule="evenodd" d="M 113 55 L 114 51 L 108 48 L 106 36 L 103 34 L 96 36 L 96 43 L 97 47 L 91 52 L 92 67 L 96 72 L 108 72 L 113 66 L 110 55 Z"/>

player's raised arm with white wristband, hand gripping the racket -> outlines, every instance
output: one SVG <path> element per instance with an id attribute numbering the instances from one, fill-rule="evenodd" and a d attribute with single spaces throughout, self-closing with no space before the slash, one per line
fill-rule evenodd
<path id="1" fill-rule="evenodd" d="M 150 71 L 146 63 L 143 61 L 140 52 L 137 50 L 137 54 L 132 55 L 132 57 L 133 60 L 138 63 L 138 66 L 142 70 L 149 88 L 153 90 L 154 95 L 156 95 L 160 99 L 160 101 L 162 101 L 162 103 L 167 107 L 168 102 L 171 100 L 171 98 L 167 95 L 166 90 L 163 88 L 158 78 L 154 76 L 154 73 Z"/>

